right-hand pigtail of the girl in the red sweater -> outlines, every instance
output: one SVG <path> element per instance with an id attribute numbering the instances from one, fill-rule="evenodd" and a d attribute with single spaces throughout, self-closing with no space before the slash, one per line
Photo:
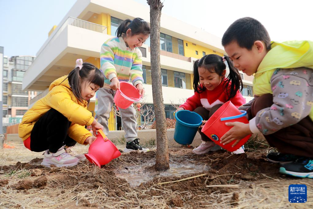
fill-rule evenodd
<path id="1" fill-rule="evenodd" d="M 240 87 L 241 89 L 243 88 L 243 84 L 238 69 L 233 66 L 233 63 L 229 60 L 229 57 L 225 56 L 223 58 L 227 61 L 229 68 L 229 74 L 227 76 L 227 81 L 224 83 L 224 86 L 226 86 L 226 94 L 228 95 L 227 100 L 230 100 L 236 95 Z M 231 83 L 230 87 L 228 87 L 229 83 Z"/>

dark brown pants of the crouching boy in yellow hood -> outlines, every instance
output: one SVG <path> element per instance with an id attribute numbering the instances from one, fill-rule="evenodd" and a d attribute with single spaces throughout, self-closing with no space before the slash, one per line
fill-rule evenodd
<path id="1" fill-rule="evenodd" d="M 247 110 L 248 115 L 253 118 L 260 110 L 271 107 L 272 104 L 272 94 L 257 97 L 251 108 Z M 282 153 L 313 157 L 313 122 L 309 116 L 300 120 L 299 123 L 264 135 L 264 137 L 270 146 Z"/>

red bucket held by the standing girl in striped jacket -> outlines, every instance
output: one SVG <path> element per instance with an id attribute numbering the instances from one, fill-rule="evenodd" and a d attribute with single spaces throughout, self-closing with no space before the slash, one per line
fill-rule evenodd
<path id="1" fill-rule="evenodd" d="M 129 82 L 121 81 L 120 89 L 116 91 L 114 96 L 115 105 L 119 108 L 126 109 L 134 102 L 139 102 L 141 95 L 137 88 Z"/>

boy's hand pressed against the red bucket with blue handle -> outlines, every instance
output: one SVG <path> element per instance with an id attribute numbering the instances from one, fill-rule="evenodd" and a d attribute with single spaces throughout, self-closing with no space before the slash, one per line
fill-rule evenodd
<path id="1" fill-rule="evenodd" d="M 249 123 L 241 123 L 241 122 L 233 122 L 233 123 L 225 123 L 227 126 L 233 126 L 228 132 L 226 132 L 222 137 L 220 143 L 222 144 L 228 144 L 232 142 L 233 140 L 236 140 L 236 142 L 232 145 L 234 147 L 240 139 L 248 136 L 252 132 L 249 128 Z"/>

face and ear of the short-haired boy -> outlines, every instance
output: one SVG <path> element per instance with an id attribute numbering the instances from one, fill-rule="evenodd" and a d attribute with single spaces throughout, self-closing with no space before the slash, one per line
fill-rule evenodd
<path id="1" fill-rule="evenodd" d="M 253 75 L 266 55 L 263 42 L 255 41 L 251 50 L 241 48 L 236 41 L 224 46 L 228 57 L 233 60 L 234 67 L 248 76 Z"/>

